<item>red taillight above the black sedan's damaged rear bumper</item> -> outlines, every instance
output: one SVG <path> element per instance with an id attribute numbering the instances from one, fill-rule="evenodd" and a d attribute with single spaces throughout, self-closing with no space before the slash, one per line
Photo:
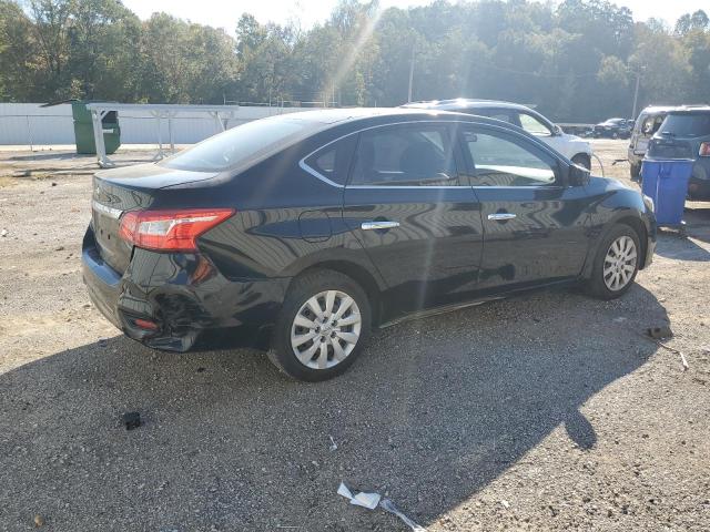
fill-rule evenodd
<path id="1" fill-rule="evenodd" d="M 231 208 L 131 211 L 121 217 L 119 236 L 145 249 L 195 252 L 196 238 L 233 214 Z"/>

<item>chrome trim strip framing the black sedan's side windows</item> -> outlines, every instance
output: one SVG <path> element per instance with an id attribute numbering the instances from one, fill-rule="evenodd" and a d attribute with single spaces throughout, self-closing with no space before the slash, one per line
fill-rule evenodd
<path id="1" fill-rule="evenodd" d="M 504 133 L 508 133 L 508 134 L 513 134 L 513 135 L 517 135 L 517 136 L 523 136 L 520 135 L 518 132 L 516 131 L 511 131 L 508 127 L 500 127 L 499 125 L 495 125 L 495 124 L 485 124 L 485 123 L 480 123 L 480 122 L 474 122 L 474 121 L 468 121 L 468 120 L 409 120 L 409 121 L 405 121 L 405 122 L 389 122 L 387 124 L 378 124 L 378 125 L 371 125 L 369 127 L 363 127 L 361 130 L 357 131 L 352 131 L 349 133 L 346 133 L 345 135 L 341 135 L 337 139 L 333 139 L 329 142 L 326 142 L 325 144 L 323 144 L 322 146 L 316 147 L 315 150 L 313 150 L 311 153 L 308 153 L 307 155 L 303 156 L 300 161 L 298 161 L 298 166 L 301 167 L 301 170 L 303 170 L 304 172 L 311 174 L 312 176 L 314 176 L 315 178 L 317 178 L 318 181 L 322 181 L 323 183 L 334 186 L 336 188 L 345 188 L 345 185 L 341 185 L 339 183 L 335 183 L 332 180 L 328 180 L 325 175 L 321 174 L 320 172 L 317 172 L 316 170 L 312 168 L 311 166 L 308 166 L 306 164 L 306 158 L 311 157 L 313 154 L 315 154 L 316 152 L 320 152 L 321 150 L 323 150 L 324 147 L 329 146 L 331 144 L 334 144 L 347 136 L 351 135 L 358 135 L 361 134 L 363 131 L 369 131 L 369 130 L 376 130 L 378 127 L 388 127 L 390 125 L 406 125 L 406 124 L 437 124 L 437 125 L 446 125 L 446 124 L 468 124 L 468 125 L 484 125 L 486 127 L 490 127 L 494 130 L 498 130 L 501 131 Z M 538 141 L 540 146 L 540 149 L 542 149 L 542 151 L 548 152 L 548 155 L 550 155 L 552 158 L 558 160 L 559 157 L 549 150 L 549 147 L 547 146 L 547 144 L 545 144 L 542 141 Z M 435 186 L 429 186 L 429 185 L 423 185 L 423 186 L 412 186 L 412 185 L 352 185 L 352 186 L 347 186 L 347 188 L 359 188 L 359 190 L 440 190 L 440 188 L 540 188 L 544 187 L 546 190 L 549 190 L 551 187 L 560 187 L 564 188 L 562 185 L 550 185 L 550 186 L 540 186 L 540 185 L 525 185 L 525 186 L 485 186 L 485 185 L 435 185 Z"/>

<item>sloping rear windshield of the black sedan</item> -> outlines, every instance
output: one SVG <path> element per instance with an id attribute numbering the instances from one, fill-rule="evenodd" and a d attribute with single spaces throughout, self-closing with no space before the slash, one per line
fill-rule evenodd
<path id="1" fill-rule="evenodd" d="M 211 136 L 165 158 L 161 166 L 196 172 L 220 172 L 256 162 L 302 137 L 313 124 L 284 116 L 255 120 Z"/>

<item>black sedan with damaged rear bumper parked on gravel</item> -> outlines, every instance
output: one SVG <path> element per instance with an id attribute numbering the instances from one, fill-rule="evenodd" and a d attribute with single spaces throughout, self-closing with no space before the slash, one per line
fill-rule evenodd
<path id="1" fill-rule="evenodd" d="M 126 336 L 268 348 L 343 372 L 373 327 L 648 266 L 652 206 L 505 122 L 332 110 L 241 125 L 156 164 L 101 171 L 83 243 L 92 300 Z"/>

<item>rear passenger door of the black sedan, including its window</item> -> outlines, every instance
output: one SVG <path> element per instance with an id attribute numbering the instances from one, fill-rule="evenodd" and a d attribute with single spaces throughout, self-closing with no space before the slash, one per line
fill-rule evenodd
<path id="1" fill-rule="evenodd" d="M 476 286 L 480 206 L 455 126 L 415 122 L 359 133 L 345 223 L 388 286 L 395 314 L 454 303 Z"/>

